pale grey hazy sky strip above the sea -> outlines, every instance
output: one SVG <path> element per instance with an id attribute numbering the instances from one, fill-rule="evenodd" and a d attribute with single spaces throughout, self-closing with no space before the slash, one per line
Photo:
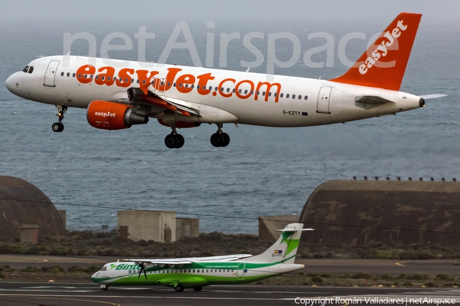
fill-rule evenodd
<path id="1" fill-rule="evenodd" d="M 398 13 L 415 12 L 424 15 L 425 22 L 458 22 L 460 3 L 450 1 L 0 1 L 0 24 L 49 20 L 110 20 L 145 23 L 146 20 L 234 21 L 245 20 L 286 22 L 320 20 L 392 20 Z"/>

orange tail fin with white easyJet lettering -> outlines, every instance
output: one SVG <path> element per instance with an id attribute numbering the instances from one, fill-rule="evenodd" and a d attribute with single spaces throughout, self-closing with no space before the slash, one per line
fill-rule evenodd
<path id="1" fill-rule="evenodd" d="M 399 14 L 350 70 L 329 81 L 399 90 L 421 17 Z"/>

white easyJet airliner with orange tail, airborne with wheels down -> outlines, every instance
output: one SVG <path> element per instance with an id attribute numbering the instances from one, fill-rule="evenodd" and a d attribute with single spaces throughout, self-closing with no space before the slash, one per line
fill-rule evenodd
<path id="1" fill-rule="evenodd" d="M 86 108 L 91 126 L 104 130 L 145 124 L 149 118 L 170 126 L 169 148 L 180 148 L 176 129 L 217 124 L 216 147 L 230 137 L 223 123 L 261 126 L 313 126 L 396 114 L 425 106 L 425 99 L 400 92 L 420 14 L 401 13 L 355 65 L 341 77 L 315 80 L 261 73 L 70 56 L 43 57 L 11 75 L 6 87 L 15 95 L 55 105 L 52 125 L 62 132 L 68 107 Z M 148 67 L 146 69 L 144 67 Z M 123 66 L 123 67 L 119 67 Z M 270 80 L 270 81 L 267 81 Z"/>

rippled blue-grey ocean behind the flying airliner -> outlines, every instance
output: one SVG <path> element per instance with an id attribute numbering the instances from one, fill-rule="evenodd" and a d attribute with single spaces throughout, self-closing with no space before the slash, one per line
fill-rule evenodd
<path id="1" fill-rule="evenodd" d="M 266 58 L 267 35 L 290 32 L 302 42 L 300 62 L 290 68 L 276 68 L 275 73 L 333 78 L 348 69 L 338 59 L 340 38 L 350 32 L 363 32 L 369 38 L 390 20 L 216 22 L 214 65 L 219 68 L 219 33 L 240 32 L 241 38 L 248 32 L 264 33 L 265 39 L 255 45 Z M 133 40 L 133 50 L 109 55 L 136 60 L 134 33 L 142 25 L 156 33 L 155 40 L 148 41 L 146 53 L 147 60 L 156 61 L 174 22 L 2 23 L 0 174 L 20 177 L 41 189 L 58 209 L 67 210 L 68 228 L 96 230 L 102 224 L 115 227 L 118 209 L 142 209 L 173 210 L 181 217 L 199 217 L 201 232 L 256 233 L 257 220 L 247 218 L 299 215 L 310 193 L 325 180 L 353 176 L 460 179 L 460 35 L 458 27 L 443 20 L 422 19 L 401 90 L 420 95 L 444 93 L 448 97 L 427 100 L 425 108 L 396 116 L 346 124 L 289 129 L 239 125 L 238 130 L 233 124 L 225 124 L 224 131 L 232 139 L 225 148 L 215 148 L 209 142 L 215 125 L 180 130 L 186 144 L 181 149 L 168 149 L 164 137 L 170 129 L 156 120 L 122 131 L 101 131 L 87 124 L 85 110 L 81 109 L 69 109 L 64 132 L 53 133 L 54 106 L 19 98 L 4 86 L 10 74 L 33 59 L 62 54 L 65 32 L 92 33 L 98 48 L 107 34 L 126 33 Z M 189 22 L 189 27 L 204 64 L 209 29 L 205 22 Z M 308 33 L 314 32 L 334 36 L 333 66 L 309 68 L 302 62 L 307 49 L 324 43 L 307 39 Z M 357 59 L 365 47 L 366 41 L 350 41 L 348 58 Z M 74 43 L 73 55 L 87 53 L 87 43 Z M 287 60 L 291 54 L 292 46 L 280 42 L 279 59 Z M 312 57 L 317 62 L 325 59 L 325 52 Z M 222 68 L 244 71 L 240 60 L 254 60 L 242 39 L 229 44 L 227 67 Z M 173 51 L 167 63 L 193 65 L 183 50 Z M 251 68 L 254 72 L 265 70 L 266 62 Z"/>

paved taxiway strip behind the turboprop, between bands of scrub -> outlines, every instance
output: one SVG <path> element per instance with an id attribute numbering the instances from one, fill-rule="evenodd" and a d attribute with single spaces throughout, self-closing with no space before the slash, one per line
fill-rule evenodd
<path id="1" fill-rule="evenodd" d="M 10 265 L 17 269 L 27 266 L 70 266 L 88 267 L 102 266 L 120 258 L 108 257 L 68 257 L 68 256 L 40 256 L 40 255 L 0 255 L 0 265 Z M 380 260 L 380 259 L 296 259 L 298 264 L 305 265 L 305 273 L 343 273 L 367 272 L 371 274 L 422 273 L 428 275 L 450 274 L 460 276 L 460 266 L 452 265 L 454 259 L 440 260 Z"/>

